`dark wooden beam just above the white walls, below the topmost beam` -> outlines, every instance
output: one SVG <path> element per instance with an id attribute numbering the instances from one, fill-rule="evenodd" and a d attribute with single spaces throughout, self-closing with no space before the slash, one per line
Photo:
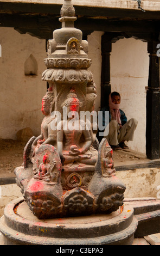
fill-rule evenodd
<path id="1" fill-rule="evenodd" d="M 2 27 L 14 27 L 20 33 L 29 33 L 42 39 L 52 39 L 53 31 L 61 28 L 61 22 L 58 18 L 55 15 L 0 13 Z M 135 38 L 149 41 L 152 39 L 153 33 L 159 35 L 160 21 L 106 20 L 81 17 L 75 22 L 75 27 L 81 29 L 84 35 L 93 31 L 123 32 L 125 33 L 124 37 L 135 35 Z M 157 38 L 154 40 L 157 40 Z"/>

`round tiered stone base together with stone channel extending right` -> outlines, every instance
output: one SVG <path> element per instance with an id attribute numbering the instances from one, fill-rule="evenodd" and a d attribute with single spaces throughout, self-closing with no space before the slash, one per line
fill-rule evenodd
<path id="1" fill-rule="evenodd" d="M 126 198 L 108 215 L 39 220 L 21 197 L 5 207 L 0 239 L 2 245 L 133 245 L 136 237 L 160 233 L 159 223 L 155 198 Z"/>

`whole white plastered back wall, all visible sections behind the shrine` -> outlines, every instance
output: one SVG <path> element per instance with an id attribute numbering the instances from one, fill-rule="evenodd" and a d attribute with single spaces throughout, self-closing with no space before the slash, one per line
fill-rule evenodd
<path id="1" fill-rule="evenodd" d="M 1 27 L 0 35 L 0 137 L 16 139 L 16 132 L 25 127 L 30 127 L 37 136 L 43 119 L 41 100 L 46 93 L 46 82 L 41 81 L 42 72 L 46 69 L 43 61 L 46 58 L 46 41 L 20 34 L 12 28 Z M 98 31 L 88 35 L 88 57 L 92 59 L 89 69 L 97 85 L 96 111 L 100 110 L 101 35 L 103 32 Z M 30 54 L 33 54 L 38 64 L 37 76 L 24 75 L 24 63 Z M 130 38 L 112 44 L 112 92 L 116 90 L 121 94 L 121 108 L 127 118 L 138 120 L 134 141 L 128 144 L 131 149 L 141 153 L 145 153 L 145 87 L 148 86 L 148 73 L 146 42 Z"/>

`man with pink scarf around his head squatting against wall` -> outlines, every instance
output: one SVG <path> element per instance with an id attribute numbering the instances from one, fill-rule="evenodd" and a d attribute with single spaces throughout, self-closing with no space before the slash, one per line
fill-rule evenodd
<path id="1" fill-rule="evenodd" d="M 102 109 L 103 112 L 110 111 L 109 133 L 105 137 L 113 150 L 129 149 L 125 141 L 133 141 L 138 124 L 135 118 L 127 121 L 125 113 L 119 108 L 120 100 L 120 94 L 113 92 L 109 96 L 109 108 Z"/>

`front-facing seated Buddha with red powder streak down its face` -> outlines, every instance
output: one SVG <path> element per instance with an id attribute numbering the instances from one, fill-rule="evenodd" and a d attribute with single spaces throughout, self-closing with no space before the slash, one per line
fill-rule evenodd
<path id="1" fill-rule="evenodd" d="M 85 121 L 79 118 L 81 105 L 74 89 L 71 89 L 62 104 L 62 107 L 67 107 L 67 120 L 61 120 L 57 125 L 57 152 L 62 165 L 73 162 L 80 166 L 94 165 L 97 161 L 97 150 L 91 147 L 91 133 Z"/>

